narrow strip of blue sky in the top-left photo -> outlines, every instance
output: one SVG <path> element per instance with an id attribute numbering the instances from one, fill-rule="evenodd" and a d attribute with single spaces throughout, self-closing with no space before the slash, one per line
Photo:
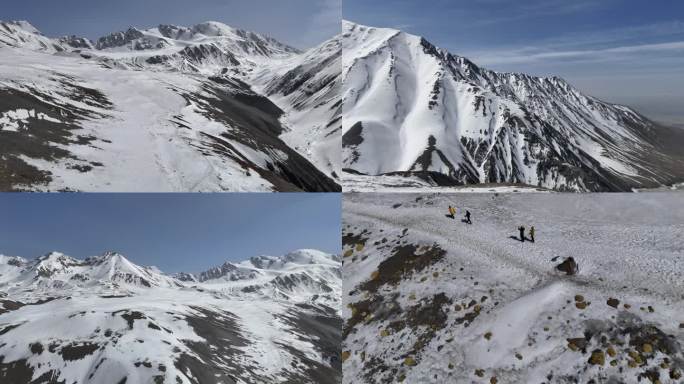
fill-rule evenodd
<path id="1" fill-rule="evenodd" d="M 310 48 L 340 33 L 341 0 L 2 0 L 0 20 L 28 20 L 48 36 L 96 39 L 129 26 L 220 21 Z"/>

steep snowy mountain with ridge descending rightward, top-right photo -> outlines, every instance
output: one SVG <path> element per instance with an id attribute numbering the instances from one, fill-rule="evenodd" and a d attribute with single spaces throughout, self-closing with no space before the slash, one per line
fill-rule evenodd
<path id="1" fill-rule="evenodd" d="M 342 42 L 348 174 L 570 191 L 684 179 L 684 131 L 563 79 L 490 71 L 419 36 L 346 21 Z"/>

